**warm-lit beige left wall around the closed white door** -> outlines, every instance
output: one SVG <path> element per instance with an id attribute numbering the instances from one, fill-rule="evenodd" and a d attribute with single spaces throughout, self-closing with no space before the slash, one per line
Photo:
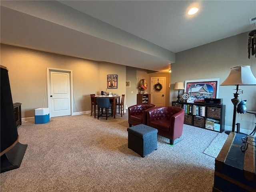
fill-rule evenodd
<path id="1" fill-rule="evenodd" d="M 22 103 L 22 118 L 33 117 L 34 109 L 48 107 L 46 68 L 73 71 L 74 112 L 90 111 L 90 94 L 106 91 L 107 74 L 118 75 L 118 88 L 109 89 L 125 94 L 126 67 L 95 62 L 70 56 L 41 52 L 1 44 L 1 65 L 9 70 L 13 102 Z M 46 100 L 44 96 L 46 94 Z M 44 105 L 43 105 L 44 104 Z"/>

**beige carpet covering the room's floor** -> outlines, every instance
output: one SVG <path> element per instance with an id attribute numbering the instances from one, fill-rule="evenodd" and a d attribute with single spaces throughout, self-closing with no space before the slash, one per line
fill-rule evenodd
<path id="1" fill-rule="evenodd" d="M 1 192 L 211 192 L 214 158 L 204 154 L 218 133 L 184 125 L 174 146 L 158 136 L 145 158 L 128 148 L 128 118 L 90 115 L 23 122 L 28 144 L 20 168 L 2 173 Z"/>

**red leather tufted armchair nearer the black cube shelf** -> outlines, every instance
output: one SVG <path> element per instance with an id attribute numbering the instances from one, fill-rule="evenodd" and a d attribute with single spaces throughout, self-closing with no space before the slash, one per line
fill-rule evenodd
<path id="1" fill-rule="evenodd" d="M 158 135 L 170 139 L 170 144 L 182 136 L 185 111 L 174 106 L 148 109 L 147 125 L 158 129 Z"/>

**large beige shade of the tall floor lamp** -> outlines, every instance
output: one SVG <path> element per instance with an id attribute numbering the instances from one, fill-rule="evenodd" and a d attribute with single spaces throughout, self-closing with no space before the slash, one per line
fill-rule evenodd
<path id="1" fill-rule="evenodd" d="M 230 74 L 220 85 L 256 85 L 256 78 L 250 66 L 238 66 L 231 68 Z"/>

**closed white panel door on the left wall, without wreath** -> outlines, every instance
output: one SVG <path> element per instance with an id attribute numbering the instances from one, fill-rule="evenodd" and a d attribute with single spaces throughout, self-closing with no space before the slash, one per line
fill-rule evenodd
<path id="1" fill-rule="evenodd" d="M 50 117 L 71 115 L 71 72 L 50 69 L 48 74 Z"/>

